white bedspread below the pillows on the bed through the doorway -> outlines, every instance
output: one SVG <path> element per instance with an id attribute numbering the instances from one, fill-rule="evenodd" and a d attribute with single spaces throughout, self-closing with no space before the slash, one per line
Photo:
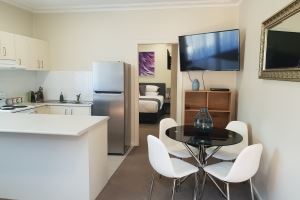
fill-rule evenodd
<path id="1" fill-rule="evenodd" d="M 160 101 L 160 108 L 158 108 L 158 103 L 156 101 L 139 100 L 139 112 L 142 113 L 156 113 L 162 109 L 164 104 L 164 97 L 162 95 L 158 96 L 140 96 L 140 98 L 145 99 L 158 99 Z"/>

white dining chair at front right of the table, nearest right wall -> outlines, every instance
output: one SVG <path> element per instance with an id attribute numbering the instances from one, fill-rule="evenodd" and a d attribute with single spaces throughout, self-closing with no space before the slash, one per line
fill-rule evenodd
<path id="1" fill-rule="evenodd" d="M 251 198 L 254 200 L 252 177 L 256 174 L 260 158 L 262 154 L 262 144 L 253 144 L 244 148 L 236 158 L 235 162 L 219 162 L 208 165 L 203 168 L 204 179 L 202 185 L 201 197 L 203 197 L 204 185 L 206 176 L 217 186 L 222 195 L 230 200 L 229 183 L 240 183 L 249 180 L 251 189 Z M 216 183 L 214 178 L 223 181 L 226 184 L 226 194 L 222 191 L 220 186 Z"/>

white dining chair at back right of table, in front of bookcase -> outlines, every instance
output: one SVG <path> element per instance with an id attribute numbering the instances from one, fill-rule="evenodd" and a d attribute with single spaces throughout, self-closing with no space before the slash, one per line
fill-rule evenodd
<path id="1" fill-rule="evenodd" d="M 235 145 L 222 147 L 213 154 L 213 157 L 224 161 L 230 161 L 236 159 L 239 153 L 248 146 L 248 127 L 245 122 L 231 121 L 227 124 L 226 129 L 242 135 L 243 141 Z M 210 155 L 214 152 L 214 149 L 215 147 L 210 147 L 206 149 L 206 153 Z"/>

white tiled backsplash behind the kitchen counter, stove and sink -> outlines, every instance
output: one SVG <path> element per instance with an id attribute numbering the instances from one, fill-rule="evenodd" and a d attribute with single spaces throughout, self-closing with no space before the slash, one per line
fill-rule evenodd
<path id="1" fill-rule="evenodd" d="M 46 100 L 58 100 L 62 92 L 64 99 L 75 100 L 81 93 L 81 100 L 92 100 L 91 71 L 7 71 L 0 70 L 0 92 L 6 97 L 26 97 L 30 90 L 44 88 Z"/>

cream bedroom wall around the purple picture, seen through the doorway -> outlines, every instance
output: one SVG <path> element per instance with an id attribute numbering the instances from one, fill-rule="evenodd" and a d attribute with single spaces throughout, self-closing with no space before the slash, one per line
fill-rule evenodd
<path id="1" fill-rule="evenodd" d="M 168 44 L 140 44 L 138 52 L 154 52 L 155 69 L 154 76 L 139 76 L 140 83 L 166 83 L 166 87 L 171 87 L 171 70 L 167 67 Z M 170 52 L 171 53 L 171 52 Z"/>

